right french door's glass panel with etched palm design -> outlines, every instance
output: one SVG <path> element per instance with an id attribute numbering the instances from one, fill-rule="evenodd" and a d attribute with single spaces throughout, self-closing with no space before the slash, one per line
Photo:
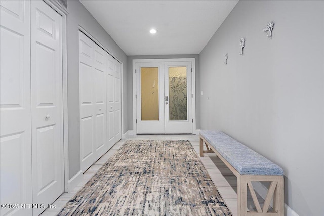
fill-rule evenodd
<path id="1" fill-rule="evenodd" d="M 187 118 L 187 67 L 169 67 L 170 121 Z"/>

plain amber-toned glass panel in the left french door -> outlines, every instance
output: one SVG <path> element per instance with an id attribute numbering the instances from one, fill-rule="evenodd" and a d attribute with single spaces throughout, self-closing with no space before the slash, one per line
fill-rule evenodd
<path id="1" fill-rule="evenodd" d="M 141 120 L 158 121 L 158 68 L 141 68 Z"/>

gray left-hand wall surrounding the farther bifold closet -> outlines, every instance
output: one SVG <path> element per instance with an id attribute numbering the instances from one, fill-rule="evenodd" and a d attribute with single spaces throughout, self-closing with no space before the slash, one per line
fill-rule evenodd
<path id="1" fill-rule="evenodd" d="M 83 27 L 107 50 L 123 62 L 124 92 L 127 92 L 127 56 L 115 41 L 99 25 L 79 1 L 67 1 L 67 70 L 68 70 L 68 133 L 69 133 L 69 179 L 80 170 L 80 113 L 79 113 L 79 44 L 78 28 Z M 127 97 L 124 97 L 127 107 Z M 124 110 L 124 125 L 127 131 L 127 109 Z M 85 170 L 83 170 L 85 171 Z"/>

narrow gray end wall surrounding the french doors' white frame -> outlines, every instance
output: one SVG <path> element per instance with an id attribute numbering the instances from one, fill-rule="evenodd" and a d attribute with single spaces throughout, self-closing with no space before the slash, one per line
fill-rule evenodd
<path id="1" fill-rule="evenodd" d="M 127 96 L 128 96 L 128 129 L 133 129 L 133 59 L 178 59 L 178 58 L 194 58 L 195 59 L 195 79 L 196 79 L 196 128 L 200 128 L 199 120 L 199 55 L 153 55 L 153 56 L 128 56 L 127 57 Z"/>

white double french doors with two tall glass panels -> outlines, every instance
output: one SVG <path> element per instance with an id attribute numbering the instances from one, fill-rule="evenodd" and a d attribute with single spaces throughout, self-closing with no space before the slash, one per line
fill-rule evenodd
<path id="1" fill-rule="evenodd" d="M 192 134 L 192 62 L 136 63 L 138 134 Z"/>

